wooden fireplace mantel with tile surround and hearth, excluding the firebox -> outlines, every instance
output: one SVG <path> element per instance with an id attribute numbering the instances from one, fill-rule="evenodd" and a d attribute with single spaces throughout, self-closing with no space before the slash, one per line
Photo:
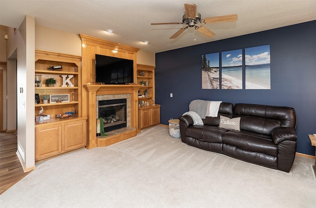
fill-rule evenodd
<path id="1" fill-rule="evenodd" d="M 87 149 L 104 147 L 136 136 L 138 129 L 138 89 L 141 85 L 85 84 L 87 96 L 88 135 Z M 126 99 L 127 127 L 106 132 L 108 136 L 96 136 L 98 100 Z"/>

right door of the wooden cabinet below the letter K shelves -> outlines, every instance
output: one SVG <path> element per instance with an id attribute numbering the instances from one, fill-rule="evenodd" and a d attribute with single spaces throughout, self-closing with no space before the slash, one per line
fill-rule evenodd
<path id="1" fill-rule="evenodd" d="M 65 151 L 86 145 L 86 121 L 76 121 L 64 124 Z"/>

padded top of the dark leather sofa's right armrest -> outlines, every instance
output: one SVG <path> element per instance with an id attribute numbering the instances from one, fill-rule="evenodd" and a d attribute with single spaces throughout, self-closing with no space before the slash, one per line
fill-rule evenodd
<path id="1" fill-rule="evenodd" d="M 282 141 L 296 141 L 297 135 L 294 128 L 291 127 L 276 127 L 272 130 L 272 139 L 275 144 Z"/>

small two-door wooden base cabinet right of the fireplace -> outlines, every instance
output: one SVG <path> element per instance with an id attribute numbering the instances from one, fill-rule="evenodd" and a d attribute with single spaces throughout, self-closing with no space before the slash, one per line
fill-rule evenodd
<path id="1" fill-rule="evenodd" d="M 160 123 L 160 105 L 141 106 L 138 108 L 139 128 L 147 128 Z"/>

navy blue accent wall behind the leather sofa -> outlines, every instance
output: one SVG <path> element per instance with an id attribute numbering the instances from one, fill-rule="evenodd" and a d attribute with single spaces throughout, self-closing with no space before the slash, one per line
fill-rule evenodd
<path id="1" fill-rule="evenodd" d="M 202 54 L 268 44 L 270 90 L 202 89 Z M 194 99 L 293 107 L 297 152 L 315 155 L 308 134 L 316 133 L 316 21 L 160 52 L 155 71 L 161 124 L 188 111 Z"/>

